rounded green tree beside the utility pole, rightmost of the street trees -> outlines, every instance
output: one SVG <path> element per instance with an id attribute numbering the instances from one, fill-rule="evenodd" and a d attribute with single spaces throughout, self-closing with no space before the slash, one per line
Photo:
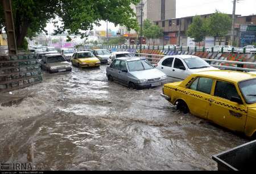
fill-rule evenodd
<path id="1" fill-rule="evenodd" d="M 219 37 L 219 45 L 221 45 L 221 37 L 226 36 L 232 27 L 232 18 L 216 10 L 210 18 L 205 20 L 205 27 L 209 36 Z"/>

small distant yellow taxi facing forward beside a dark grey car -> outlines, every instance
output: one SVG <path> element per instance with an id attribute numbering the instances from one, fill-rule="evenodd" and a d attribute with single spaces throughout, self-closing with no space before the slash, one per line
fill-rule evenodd
<path id="1" fill-rule="evenodd" d="M 77 67 L 100 67 L 101 62 L 91 52 L 76 52 L 71 58 L 72 65 Z"/>

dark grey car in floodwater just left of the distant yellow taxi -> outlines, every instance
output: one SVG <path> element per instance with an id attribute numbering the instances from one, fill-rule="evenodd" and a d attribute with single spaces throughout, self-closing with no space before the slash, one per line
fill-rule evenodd
<path id="1" fill-rule="evenodd" d="M 41 68 L 49 73 L 72 71 L 71 65 L 61 54 L 46 54 L 40 61 Z"/>

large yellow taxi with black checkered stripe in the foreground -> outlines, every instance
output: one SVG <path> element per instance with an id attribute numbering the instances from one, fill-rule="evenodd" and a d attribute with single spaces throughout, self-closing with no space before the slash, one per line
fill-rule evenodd
<path id="1" fill-rule="evenodd" d="M 162 96 L 183 113 L 248 137 L 256 135 L 256 74 L 203 71 L 183 82 L 165 84 Z"/>

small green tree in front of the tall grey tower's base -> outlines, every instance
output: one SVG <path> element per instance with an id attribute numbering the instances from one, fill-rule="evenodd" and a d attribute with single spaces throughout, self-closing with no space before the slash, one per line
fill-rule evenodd
<path id="1" fill-rule="evenodd" d="M 146 37 L 147 39 L 152 39 L 153 45 L 155 45 L 155 39 L 163 36 L 163 29 L 159 26 L 152 24 L 148 19 L 144 20 L 143 26 L 144 27 L 142 33 L 144 37 Z"/>

